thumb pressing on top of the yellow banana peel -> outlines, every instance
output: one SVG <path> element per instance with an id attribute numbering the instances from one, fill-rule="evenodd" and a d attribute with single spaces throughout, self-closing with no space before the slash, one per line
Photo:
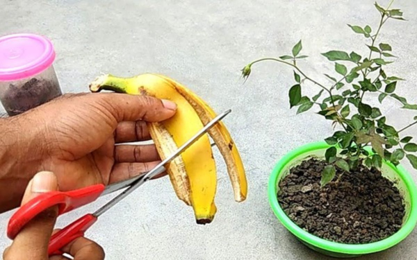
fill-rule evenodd
<path id="1" fill-rule="evenodd" d="M 151 96 L 101 93 L 92 94 L 90 97 L 97 98 L 117 122 L 140 120 L 158 122 L 169 119 L 177 110 L 177 105 L 172 101 Z"/>

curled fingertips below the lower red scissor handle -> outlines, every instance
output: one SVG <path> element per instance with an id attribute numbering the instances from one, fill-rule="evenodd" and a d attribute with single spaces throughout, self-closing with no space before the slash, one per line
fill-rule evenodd
<path id="1" fill-rule="evenodd" d="M 99 244 L 83 236 L 68 243 L 61 250 L 74 257 L 74 260 L 101 260 L 105 257 L 104 250 Z M 57 255 L 49 260 L 67 260 L 67 258 Z"/>

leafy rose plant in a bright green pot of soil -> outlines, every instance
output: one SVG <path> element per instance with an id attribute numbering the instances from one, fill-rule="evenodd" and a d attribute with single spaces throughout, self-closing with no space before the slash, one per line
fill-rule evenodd
<path id="1" fill-rule="evenodd" d="M 381 28 L 389 20 L 404 20 L 402 12 L 382 8 L 379 24 L 371 28 L 348 25 L 368 42 L 369 53 L 327 51 L 322 55 L 334 62 L 338 76 L 326 73 L 329 84 L 318 83 L 300 69 L 302 42 L 291 55 L 262 58 L 247 64 L 247 80 L 254 64 L 272 60 L 293 67 L 295 85 L 288 92 L 290 108 L 297 114 L 318 109 L 332 121 L 334 133 L 325 141 L 307 144 L 288 153 L 270 176 L 268 197 L 275 215 L 300 241 L 313 250 L 333 257 L 357 257 L 391 248 L 414 229 L 417 222 L 417 189 L 400 162 L 407 158 L 417 168 L 417 144 L 397 130 L 369 102 L 394 98 L 403 109 L 417 110 L 407 98 L 395 94 L 403 82 L 387 75 L 385 67 L 395 55 L 386 42 L 379 41 Z M 320 90 L 304 96 L 303 86 L 313 83 Z M 364 98 L 365 97 L 365 98 Z"/>

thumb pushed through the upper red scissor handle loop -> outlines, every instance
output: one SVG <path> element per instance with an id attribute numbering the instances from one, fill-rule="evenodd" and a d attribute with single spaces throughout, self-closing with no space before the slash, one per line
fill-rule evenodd
<path id="1" fill-rule="evenodd" d="M 37 173 L 26 187 L 22 205 L 40 193 L 57 190 L 58 182 L 54 173 L 49 171 Z M 19 251 L 19 256 L 26 257 L 25 259 L 45 259 L 44 257 L 48 256 L 48 243 L 57 216 L 58 207 L 56 206 L 42 211 L 17 234 L 8 251 L 10 253 Z"/>

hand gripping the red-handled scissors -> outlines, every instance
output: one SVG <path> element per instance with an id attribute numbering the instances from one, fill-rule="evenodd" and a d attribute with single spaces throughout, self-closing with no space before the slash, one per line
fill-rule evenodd
<path id="1" fill-rule="evenodd" d="M 58 191 L 58 181 L 54 173 L 44 171 L 37 173 L 26 187 L 22 205 L 47 191 Z M 48 243 L 53 234 L 58 207 L 51 207 L 29 221 L 17 234 L 10 247 L 3 252 L 4 260 L 66 260 L 67 257 L 55 255 L 48 257 Z M 58 231 L 58 230 L 55 230 Z M 70 254 L 74 260 L 104 259 L 104 250 L 97 243 L 79 237 L 61 249 Z"/>

